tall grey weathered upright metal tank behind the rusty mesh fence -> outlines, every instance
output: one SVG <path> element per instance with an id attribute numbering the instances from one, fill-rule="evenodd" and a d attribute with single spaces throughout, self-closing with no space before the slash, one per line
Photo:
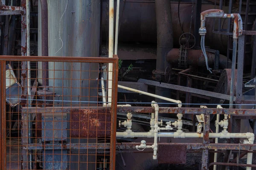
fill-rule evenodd
<path id="1" fill-rule="evenodd" d="M 48 0 L 48 43 L 50 56 L 71 56 L 71 57 L 99 57 L 100 38 L 100 0 Z M 41 6 L 38 11 L 38 56 L 41 56 Z M 45 17 L 45 16 L 43 16 Z M 47 36 L 47 35 L 46 35 Z M 39 70 L 42 68 L 38 63 Z M 98 64 L 91 63 L 62 63 L 49 62 L 49 86 L 55 87 L 49 90 L 57 95 L 62 95 L 63 100 L 72 101 L 97 101 L 97 80 L 99 69 Z M 64 71 L 68 70 L 68 71 Z M 70 70 L 73 70 L 72 72 Z M 89 73 L 90 70 L 90 73 Z M 91 71 L 94 72 L 91 72 Z M 38 71 L 38 81 L 42 83 L 41 71 Z M 60 79 L 58 79 L 60 78 Z M 62 79 L 66 79 L 62 81 Z M 53 80 L 54 79 L 54 80 Z M 72 79 L 72 81 L 70 81 Z M 76 79 L 76 80 L 75 80 Z M 90 79 L 81 81 L 81 79 Z M 59 87 L 59 88 L 56 88 Z M 63 88 L 66 87 L 66 88 Z M 72 87 L 72 95 L 70 88 Z M 90 88 L 90 93 L 89 93 Z M 65 90 L 67 89 L 67 90 Z M 90 94 L 90 97 L 88 97 Z M 71 96 L 70 96 L 71 95 Z M 79 102 L 72 102 L 76 105 Z M 70 102 L 64 103 L 71 105 Z M 89 105 L 89 103 L 83 103 Z M 95 103 L 94 103 L 95 105 Z M 87 139 L 71 139 L 72 143 L 87 142 Z M 96 142 L 92 140 L 88 142 Z M 72 152 L 72 150 L 71 150 Z M 77 160 L 86 161 L 86 156 L 71 155 L 71 162 Z M 95 157 L 87 161 L 96 162 Z M 76 163 L 69 165 L 71 169 L 95 169 L 96 164 L 90 164 L 87 168 Z"/>

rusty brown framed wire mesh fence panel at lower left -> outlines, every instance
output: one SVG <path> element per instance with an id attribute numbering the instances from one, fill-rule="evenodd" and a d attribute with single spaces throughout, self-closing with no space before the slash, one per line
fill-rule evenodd
<path id="1" fill-rule="evenodd" d="M 117 56 L 1 56 L 0 62 L 1 170 L 114 169 Z M 28 69 L 29 62 L 37 67 Z M 103 101 L 109 90 L 112 97 Z"/>

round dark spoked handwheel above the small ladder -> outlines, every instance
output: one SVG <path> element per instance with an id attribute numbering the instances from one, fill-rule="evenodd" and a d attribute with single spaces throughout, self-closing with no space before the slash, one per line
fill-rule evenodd
<path id="1" fill-rule="evenodd" d="M 195 46 L 195 36 L 190 33 L 184 33 L 179 39 L 180 46 L 184 49 L 191 49 Z"/>

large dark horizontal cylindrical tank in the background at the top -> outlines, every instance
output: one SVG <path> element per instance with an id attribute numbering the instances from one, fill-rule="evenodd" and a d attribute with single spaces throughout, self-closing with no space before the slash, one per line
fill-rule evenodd
<path id="1" fill-rule="evenodd" d="M 126 2 L 123 10 L 124 3 L 120 2 L 120 15 L 119 15 L 119 42 L 144 42 L 144 43 L 157 43 L 157 24 L 156 12 L 154 3 L 132 3 Z M 178 3 L 171 2 L 172 10 L 172 28 L 174 35 L 174 47 L 179 46 L 179 37 L 182 33 L 180 24 L 178 22 Z M 202 11 L 212 9 L 214 5 L 202 5 Z M 216 8 L 219 8 L 216 6 Z M 226 8 L 223 8 L 228 12 Z M 180 3 L 180 23 L 184 32 L 189 32 L 190 19 L 192 15 L 192 4 Z M 191 33 L 194 34 L 195 22 L 195 5 L 192 17 Z M 221 53 L 227 53 L 227 36 L 212 33 L 212 29 L 217 29 L 218 20 L 206 20 L 206 42 L 205 45 L 213 49 L 218 49 Z M 227 20 L 221 20 L 221 28 L 227 28 Z M 198 32 L 198 31 L 197 31 Z M 108 3 L 103 2 L 102 11 L 102 40 L 108 38 Z"/>

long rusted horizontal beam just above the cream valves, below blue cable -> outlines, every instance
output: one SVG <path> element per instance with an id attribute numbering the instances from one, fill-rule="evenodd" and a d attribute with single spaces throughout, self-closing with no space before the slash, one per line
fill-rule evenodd
<path id="1" fill-rule="evenodd" d="M 72 107 L 72 109 L 80 110 L 90 110 L 105 113 L 106 111 L 111 111 L 110 107 Z M 23 108 L 25 113 L 70 113 L 72 110 L 70 107 L 47 107 L 47 108 Z M 120 113 L 154 113 L 154 108 L 152 107 L 117 107 L 117 112 Z M 170 113 L 170 114 L 228 114 L 228 115 L 240 115 L 240 116 L 255 116 L 256 109 L 228 109 L 228 108 L 159 108 L 158 113 Z"/>

